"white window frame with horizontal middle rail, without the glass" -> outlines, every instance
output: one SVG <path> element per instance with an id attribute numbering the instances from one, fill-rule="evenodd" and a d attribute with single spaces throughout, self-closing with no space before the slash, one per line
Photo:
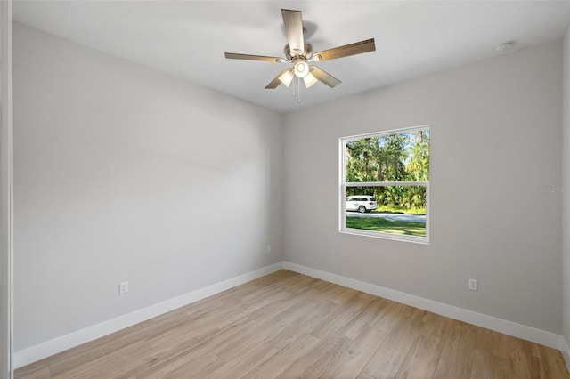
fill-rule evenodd
<path id="1" fill-rule="evenodd" d="M 338 183 L 338 231 L 340 233 L 353 234 L 357 236 L 393 239 L 397 241 L 413 242 L 417 244 L 429 245 L 429 181 L 363 181 L 363 182 L 346 182 L 346 142 L 354 140 L 362 140 L 365 138 L 379 137 L 383 135 L 411 133 L 419 130 L 430 129 L 429 125 L 419 125 L 400 129 L 391 129 L 387 131 L 365 133 L 341 137 L 338 139 L 338 165 L 339 165 L 339 183 Z M 431 136 L 431 134 L 430 134 Z M 430 158 L 431 158 L 431 140 L 430 140 Z M 431 160 L 429 165 L 431 171 Z M 395 233 L 387 233 L 384 231 L 362 230 L 346 227 L 346 188 L 347 187 L 394 187 L 394 186 L 425 186 L 426 187 L 426 236 L 409 236 Z"/>

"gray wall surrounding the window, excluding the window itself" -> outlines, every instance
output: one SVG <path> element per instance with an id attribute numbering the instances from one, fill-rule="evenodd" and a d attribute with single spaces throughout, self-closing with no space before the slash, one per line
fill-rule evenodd
<path id="1" fill-rule="evenodd" d="M 561 82 L 543 44 L 287 114 L 285 260 L 560 334 Z M 338 138 L 425 124 L 431 244 L 338 233 Z"/>

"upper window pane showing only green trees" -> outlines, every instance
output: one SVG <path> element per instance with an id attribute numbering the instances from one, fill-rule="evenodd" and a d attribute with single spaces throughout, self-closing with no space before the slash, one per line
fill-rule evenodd
<path id="1" fill-rule="evenodd" d="M 429 129 L 346 141 L 345 181 L 429 181 Z"/>

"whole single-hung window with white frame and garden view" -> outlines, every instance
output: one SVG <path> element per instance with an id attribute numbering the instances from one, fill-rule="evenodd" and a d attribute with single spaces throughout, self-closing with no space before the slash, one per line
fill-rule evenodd
<path id="1" fill-rule="evenodd" d="M 429 126 L 340 139 L 341 232 L 429 242 Z"/>

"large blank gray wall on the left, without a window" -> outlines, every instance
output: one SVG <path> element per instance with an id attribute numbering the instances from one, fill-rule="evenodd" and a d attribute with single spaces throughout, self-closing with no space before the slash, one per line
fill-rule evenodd
<path id="1" fill-rule="evenodd" d="M 16 351 L 281 262 L 281 114 L 20 24 L 13 44 Z"/>

